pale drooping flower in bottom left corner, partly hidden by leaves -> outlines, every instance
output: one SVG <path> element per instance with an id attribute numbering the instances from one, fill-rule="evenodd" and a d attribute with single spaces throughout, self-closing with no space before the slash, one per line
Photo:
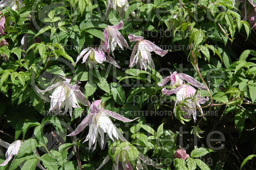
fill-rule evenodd
<path id="1" fill-rule="evenodd" d="M 3 141 L 2 139 L 0 139 L 0 145 L 7 148 L 7 151 L 5 153 L 5 157 L 6 160 L 0 164 L 0 166 L 5 166 L 8 164 L 8 162 L 12 159 L 12 157 L 14 155 L 17 155 L 19 150 L 20 150 L 20 146 L 23 144 L 23 140 L 16 140 L 14 141 L 12 144 L 9 144 L 8 142 Z M 33 151 L 35 152 L 38 156 L 38 152 L 36 151 L 36 149 Z M 15 158 L 14 158 L 15 159 Z M 46 170 L 40 163 L 40 160 L 38 160 L 37 166 L 42 169 L 42 170 Z M 23 163 L 20 164 L 20 168 L 23 166 Z"/>

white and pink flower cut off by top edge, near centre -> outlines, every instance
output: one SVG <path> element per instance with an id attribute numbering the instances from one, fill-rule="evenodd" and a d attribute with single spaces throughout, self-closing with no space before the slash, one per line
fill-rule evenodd
<path id="1" fill-rule="evenodd" d="M 128 0 L 108 0 L 107 8 L 106 8 L 106 19 L 108 19 L 108 14 L 111 9 L 115 9 L 116 12 L 120 15 L 121 18 L 124 16 L 124 12 L 129 8 Z M 124 4 L 126 4 L 124 6 Z M 123 7 L 124 6 L 124 7 Z M 136 14 L 132 11 L 132 16 L 136 18 Z"/>

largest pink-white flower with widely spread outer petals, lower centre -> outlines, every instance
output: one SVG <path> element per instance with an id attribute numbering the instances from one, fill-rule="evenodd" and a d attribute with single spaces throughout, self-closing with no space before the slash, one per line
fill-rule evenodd
<path id="1" fill-rule="evenodd" d="M 111 116 L 117 120 L 121 120 L 124 122 L 132 122 L 133 120 L 139 118 L 135 118 L 133 120 L 127 119 L 113 111 L 106 110 L 105 106 L 102 103 L 102 100 L 96 100 L 92 102 L 90 106 L 89 114 L 84 118 L 84 120 L 77 126 L 76 130 L 70 133 L 67 136 L 74 136 L 84 130 L 86 126 L 89 125 L 89 133 L 86 136 L 84 142 L 89 140 L 89 149 L 95 143 L 94 148 L 96 147 L 96 139 L 98 137 L 98 133 L 100 134 L 100 147 L 102 149 L 104 145 L 104 133 L 108 133 L 109 138 L 114 141 L 115 137 L 117 140 L 121 139 L 125 140 L 123 134 L 116 126 L 112 123 L 111 119 L 108 117 Z M 93 149 L 94 150 L 94 149 Z"/>

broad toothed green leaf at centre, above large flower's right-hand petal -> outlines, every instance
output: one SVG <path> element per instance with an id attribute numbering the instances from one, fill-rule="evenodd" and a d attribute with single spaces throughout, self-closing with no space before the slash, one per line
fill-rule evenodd
<path id="1" fill-rule="evenodd" d="M 125 102 L 125 92 L 120 84 L 115 84 L 115 87 L 111 86 L 111 93 L 113 95 L 114 100 L 117 104 L 124 104 Z"/>

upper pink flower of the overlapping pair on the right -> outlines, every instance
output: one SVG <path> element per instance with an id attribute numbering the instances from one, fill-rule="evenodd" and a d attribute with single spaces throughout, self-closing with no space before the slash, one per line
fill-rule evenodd
<path id="1" fill-rule="evenodd" d="M 165 84 L 167 84 L 167 82 L 171 81 L 170 86 L 178 87 L 181 84 L 183 84 L 184 80 L 186 80 L 192 86 L 195 86 L 202 90 L 206 90 L 206 87 L 204 84 L 200 83 L 199 81 L 197 81 L 196 79 L 194 79 L 188 74 L 178 73 L 177 71 L 174 71 L 173 74 L 170 72 L 170 74 L 171 74 L 170 76 L 164 78 L 163 81 L 161 83 L 158 83 L 157 85 L 160 87 L 163 87 Z"/>

